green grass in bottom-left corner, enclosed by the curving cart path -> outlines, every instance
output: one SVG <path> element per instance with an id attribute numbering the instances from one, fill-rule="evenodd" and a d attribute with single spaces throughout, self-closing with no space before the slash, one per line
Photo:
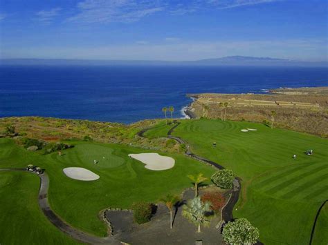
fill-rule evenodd
<path id="1" fill-rule="evenodd" d="M 78 244 L 46 219 L 38 190 L 36 175 L 0 172 L 0 244 Z"/>

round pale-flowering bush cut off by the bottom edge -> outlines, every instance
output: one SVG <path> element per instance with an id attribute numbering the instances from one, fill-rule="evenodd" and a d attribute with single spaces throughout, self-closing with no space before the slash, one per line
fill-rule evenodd
<path id="1" fill-rule="evenodd" d="M 224 226 L 222 237 L 227 244 L 255 244 L 259 238 L 259 230 L 242 218 L 228 222 Z"/>

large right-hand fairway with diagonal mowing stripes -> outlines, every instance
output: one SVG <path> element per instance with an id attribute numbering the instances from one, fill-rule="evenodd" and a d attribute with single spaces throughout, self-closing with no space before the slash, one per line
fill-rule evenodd
<path id="1" fill-rule="evenodd" d="M 257 131 L 242 133 L 242 128 Z M 247 192 L 234 214 L 257 226 L 262 242 L 309 243 L 316 210 L 328 195 L 327 139 L 261 124 L 208 119 L 185 120 L 173 134 L 186 139 L 194 153 L 242 177 Z M 213 141 L 217 148 L 212 147 Z M 304 155 L 307 149 L 313 149 L 314 155 Z M 293 154 L 297 159 L 292 159 Z"/>

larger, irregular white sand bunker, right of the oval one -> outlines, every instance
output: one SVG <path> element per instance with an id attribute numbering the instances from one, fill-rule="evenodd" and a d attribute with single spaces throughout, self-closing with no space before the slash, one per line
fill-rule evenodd
<path id="1" fill-rule="evenodd" d="M 174 159 L 172 157 L 165 157 L 157 153 L 140 153 L 129 154 L 129 157 L 142 161 L 146 164 L 145 168 L 150 170 L 166 170 L 174 167 Z"/>

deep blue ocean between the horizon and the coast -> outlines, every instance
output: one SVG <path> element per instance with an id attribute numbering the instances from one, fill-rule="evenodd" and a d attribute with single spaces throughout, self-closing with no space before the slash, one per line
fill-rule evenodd
<path id="1" fill-rule="evenodd" d="M 203 66 L 0 66 L 0 117 L 44 116 L 131 123 L 174 117 L 188 93 L 261 93 L 328 86 L 328 68 Z"/>

